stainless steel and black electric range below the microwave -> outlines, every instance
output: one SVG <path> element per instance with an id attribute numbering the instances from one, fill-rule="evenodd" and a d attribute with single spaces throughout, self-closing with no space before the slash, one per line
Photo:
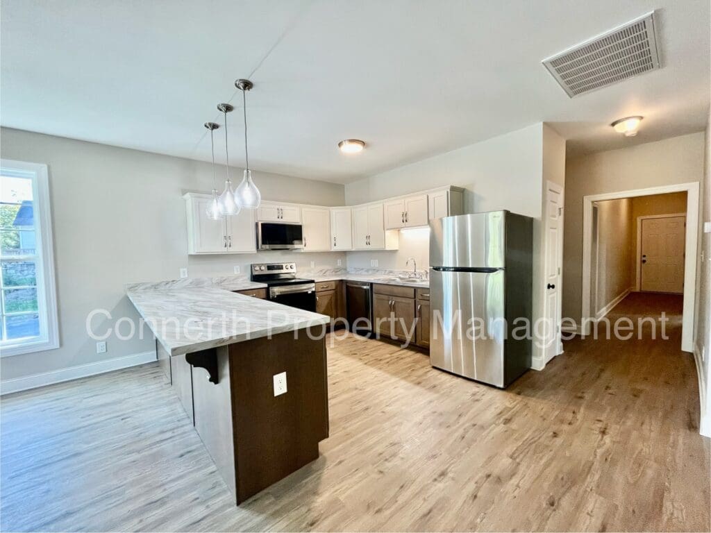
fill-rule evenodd
<path id="1" fill-rule="evenodd" d="M 316 311 L 316 283 L 296 277 L 296 263 L 252 264 L 252 281 L 267 284 L 267 297 L 285 306 Z"/>

